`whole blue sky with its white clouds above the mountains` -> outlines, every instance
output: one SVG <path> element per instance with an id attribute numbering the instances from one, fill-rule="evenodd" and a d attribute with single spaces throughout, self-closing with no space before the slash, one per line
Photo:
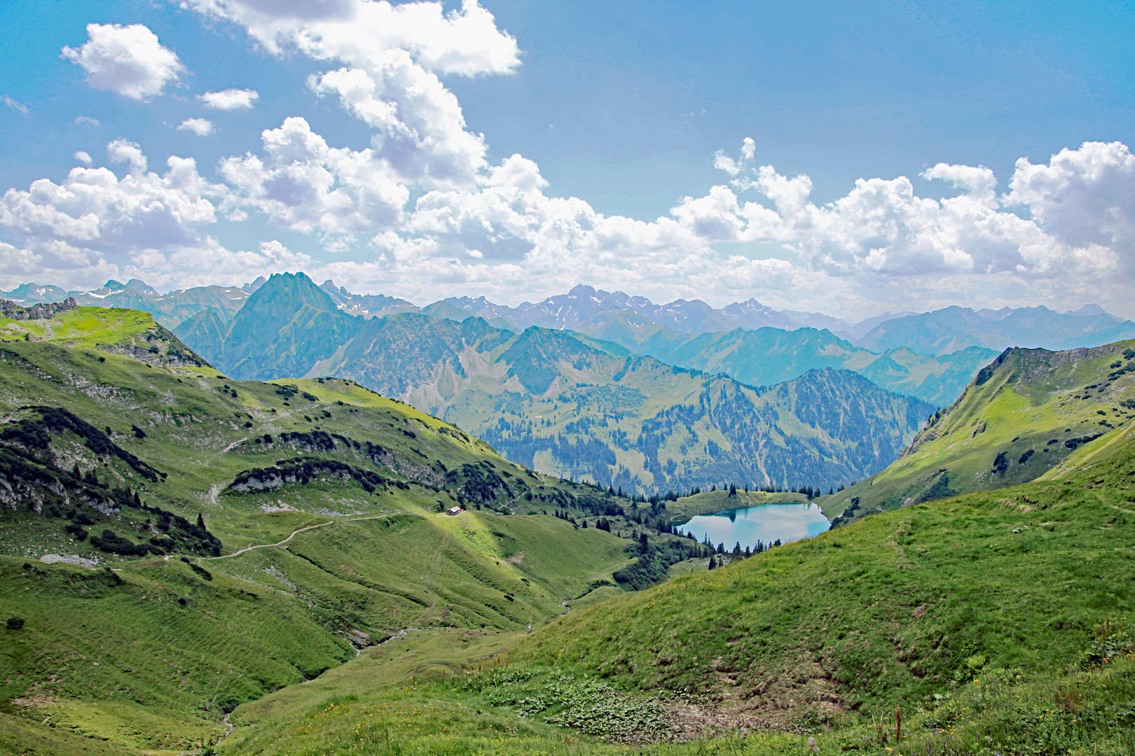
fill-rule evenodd
<path id="1" fill-rule="evenodd" d="M 0 10 L 0 289 L 1135 317 L 1120 3 Z"/>

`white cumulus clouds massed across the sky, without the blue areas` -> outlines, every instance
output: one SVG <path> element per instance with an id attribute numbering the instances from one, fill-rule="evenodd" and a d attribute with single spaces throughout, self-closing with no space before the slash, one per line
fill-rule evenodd
<path id="1" fill-rule="evenodd" d="M 76 281 L 85 265 L 185 286 L 205 258 L 217 281 L 302 264 L 419 301 L 486 294 L 516 303 L 579 282 L 716 304 L 757 296 L 849 316 L 894 303 L 1135 301 L 1135 158 L 1120 143 L 1085 142 L 1046 163 L 1023 158 L 1007 190 L 987 168 L 940 163 L 922 173 L 941 187 L 936 196 L 918 196 L 900 176 L 860 179 L 817 204 L 807 176 L 762 163 L 747 138 L 712 156 L 722 178 L 704 196 L 653 221 L 609 216 L 549 196 L 522 155 L 490 163 L 485 137 L 468 128 L 444 77 L 508 75 L 521 59 L 516 40 L 472 0 L 449 12 L 370 0 L 182 5 L 243 29 L 267 56 L 322 65 L 309 91 L 365 124 L 370 144 L 330 144 L 289 117 L 260 135 L 258 150 L 224 159 L 210 181 L 188 158 L 151 172 L 137 145 L 115 141 L 107 154 L 126 167 L 121 176 L 87 156 L 59 185 L 6 193 L 0 228 L 19 244 L 6 250 L 3 280 Z M 64 54 L 92 86 L 144 100 L 184 71 L 145 27 L 92 24 L 89 34 Z M 258 97 L 225 90 L 197 100 L 230 111 Z M 204 136 L 212 127 L 186 118 L 178 128 Z M 253 216 L 308 235 L 311 249 L 268 241 L 228 252 L 215 240 L 217 224 Z"/>

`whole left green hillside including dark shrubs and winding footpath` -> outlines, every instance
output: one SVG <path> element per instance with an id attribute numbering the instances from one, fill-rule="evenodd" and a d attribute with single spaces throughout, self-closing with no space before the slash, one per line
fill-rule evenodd
<path id="1" fill-rule="evenodd" d="M 160 329 L 131 311 L 22 323 L 72 339 L 83 317 L 91 347 L 0 345 L 0 617 L 23 619 L 0 715 L 20 742 L 209 742 L 234 706 L 406 628 L 524 631 L 633 559 L 568 519 L 627 502 L 354 383 L 235 382 L 173 337 L 126 357 Z"/>

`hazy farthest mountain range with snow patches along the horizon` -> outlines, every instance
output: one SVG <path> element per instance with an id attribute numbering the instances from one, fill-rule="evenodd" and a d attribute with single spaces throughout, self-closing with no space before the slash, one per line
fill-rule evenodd
<path id="1" fill-rule="evenodd" d="M 167 328 L 213 307 L 222 321 L 229 321 L 243 306 L 247 295 L 264 279 L 258 278 L 243 287 L 196 287 L 159 295 L 137 279 L 127 283 L 108 281 L 93 291 L 64 291 L 59 287 L 25 283 L 0 297 L 17 304 L 57 301 L 73 296 L 81 305 L 133 307 L 152 313 Z M 1094 304 L 1077 311 L 1058 313 L 1043 306 L 1001 309 L 947 307 L 930 313 L 886 312 L 851 323 L 819 313 L 776 311 L 756 299 L 734 301 L 714 308 L 699 299 L 656 305 L 645 297 L 621 291 L 609 292 L 589 286 L 577 286 L 564 295 L 543 301 L 523 303 L 516 307 L 498 305 L 485 297 L 451 297 L 424 307 L 385 295 L 358 295 L 334 281 L 320 287 L 336 306 L 350 315 L 367 318 L 384 317 L 402 312 L 424 312 L 436 317 L 463 320 L 461 313 L 484 317 L 496 328 L 513 332 L 530 325 L 572 330 L 588 335 L 617 341 L 616 334 L 630 330 L 629 338 L 638 343 L 654 331 L 700 335 L 735 329 L 775 328 L 827 330 L 832 335 L 876 354 L 906 347 L 916 354 L 942 356 L 982 347 L 1001 351 L 1008 347 L 1070 349 L 1094 347 L 1135 337 L 1135 323 L 1125 321 Z"/>

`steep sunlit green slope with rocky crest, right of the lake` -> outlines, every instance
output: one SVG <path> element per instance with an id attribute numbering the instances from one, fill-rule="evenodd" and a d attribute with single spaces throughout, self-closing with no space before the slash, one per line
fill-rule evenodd
<path id="1" fill-rule="evenodd" d="M 1032 481 L 1135 417 L 1135 342 L 1007 349 L 885 470 L 823 502 L 866 513 Z M 1103 443 L 1101 439 L 1098 443 Z"/>

